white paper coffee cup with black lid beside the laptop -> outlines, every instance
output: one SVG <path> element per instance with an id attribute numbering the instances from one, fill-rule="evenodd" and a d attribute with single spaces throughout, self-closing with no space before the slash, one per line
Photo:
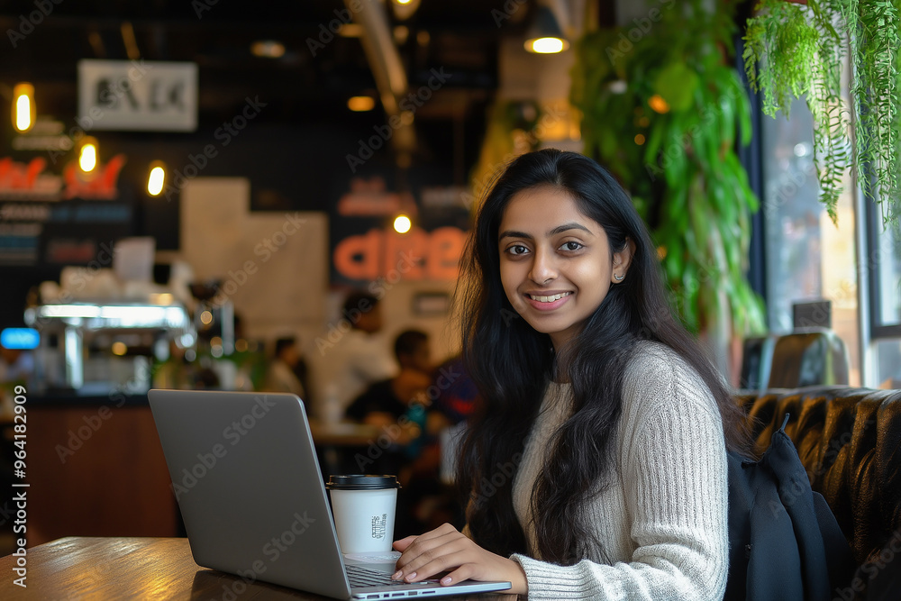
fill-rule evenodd
<path id="1" fill-rule="evenodd" d="M 333 475 L 326 488 L 342 553 L 391 551 L 397 506 L 396 476 Z"/>

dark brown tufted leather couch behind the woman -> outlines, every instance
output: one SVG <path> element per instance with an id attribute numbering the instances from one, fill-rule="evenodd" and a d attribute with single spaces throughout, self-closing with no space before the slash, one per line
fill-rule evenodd
<path id="1" fill-rule="evenodd" d="M 901 390 L 799 387 L 737 399 L 759 453 L 791 415 L 786 433 L 859 565 L 835 598 L 901 599 Z"/>

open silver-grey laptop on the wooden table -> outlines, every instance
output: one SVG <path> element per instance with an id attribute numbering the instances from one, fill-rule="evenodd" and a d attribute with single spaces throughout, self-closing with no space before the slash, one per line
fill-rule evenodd
<path id="1" fill-rule="evenodd" d="M 198 565 L 336 599 L 510 587 L 474 580 L 450 587 L 437 580 L 405 584 L 387 578 L 396 571 L 396 554 L 342 556 L 297 396 L 187 390 L 147 396 Z"/>

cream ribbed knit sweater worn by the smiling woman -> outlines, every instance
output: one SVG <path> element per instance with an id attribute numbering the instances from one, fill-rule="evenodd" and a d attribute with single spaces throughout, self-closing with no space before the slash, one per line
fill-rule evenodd
<path id="1" fill-rule="evenodd" d="M 530 555 L 515 554 L 530 599 L 722 599 L 728 573 L 726 453 L 714 398 L 696 371 L 642 342 L 623 378 L 612 484 L 584 507 L 601 548 L 573 566 L 538 557 L 530 496 L 569 384 L 551 384 L 514 480 Z M 539 508 L 540 510 L 541 508 Z"/>

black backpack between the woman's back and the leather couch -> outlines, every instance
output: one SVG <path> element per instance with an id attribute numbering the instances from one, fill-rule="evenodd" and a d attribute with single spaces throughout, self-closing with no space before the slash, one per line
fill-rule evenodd
<path id="1" fill-rule="evenodd" d="M 811 490 L 788 415 L 760 461 L 729 453 L 728 601 L 820 601 L 851 579 L 851 547 Z"/>

